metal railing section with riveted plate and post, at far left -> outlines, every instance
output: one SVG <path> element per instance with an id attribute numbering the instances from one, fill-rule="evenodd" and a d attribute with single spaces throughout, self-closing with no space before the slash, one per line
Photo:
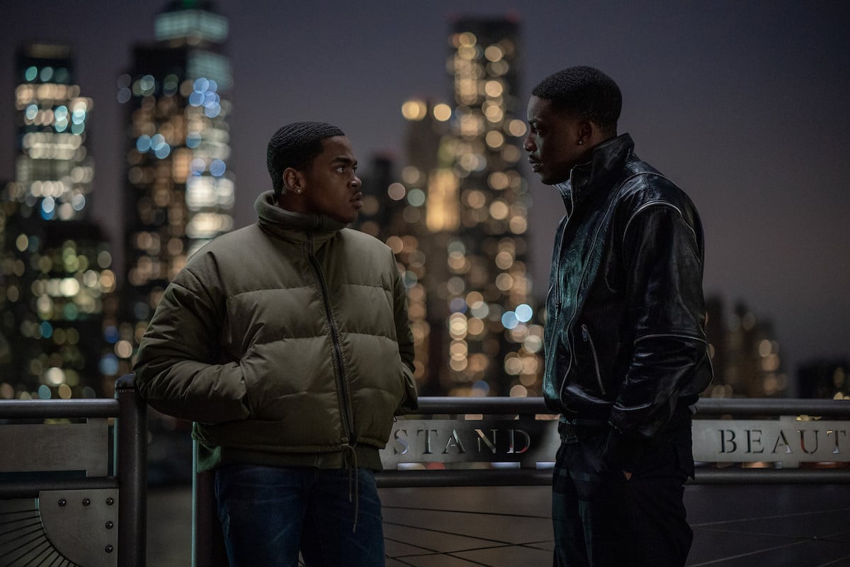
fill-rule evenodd
<path id="1" fill-rule="evenodd" d="M 45 549 L 38 552 L 42 557 L 52 547 L 50 553 L 87 558 L 88 564 L 144 567 L 146 415 L 132 375 L 118 378 L 113 400 L 0 400 L 0 472 L 8 479 L 0 482 L 0 501 L 39 500 L 37 514 L 48 532 L 47 541 L 41 544 Z M 112 475 L 108 472 L 110 418 L 115 419 Z M 58 426 L 45 420 L 82 423 Z M 61 436 L 57 435 L 58 428 L 62 428 Z M 111 519 L 113 514 L 116 520 Z M 93 541 L 95 534 L 89 531 L 92 526 L 87 522 L 95 515 L 98 529 L 105 530 L 101 537 L 105 541 L 114 539 L 117 545 Z M 107 520 L 99 521 L 100 515 Z M 51 533 L 48 530 L 54 525 L 53 518 L 56 524 Z M 117 535 L 112 536 L 113 532 Z M 31 536 L 31 540 L 42 535 Z"/>

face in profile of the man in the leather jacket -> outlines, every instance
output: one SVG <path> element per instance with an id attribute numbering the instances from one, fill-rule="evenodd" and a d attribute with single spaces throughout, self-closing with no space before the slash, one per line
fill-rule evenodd
<path id="1" fill-rule="evenodd" d="M 590 159 L 588 139 L 581 140 L 578 118 L 553 107 L 552 101 L 532 96 L 528 108 L 529 134 L 523 147 L 531 170 L 542 183 L 553 185 L 570 179 L 570 170 Z"/>

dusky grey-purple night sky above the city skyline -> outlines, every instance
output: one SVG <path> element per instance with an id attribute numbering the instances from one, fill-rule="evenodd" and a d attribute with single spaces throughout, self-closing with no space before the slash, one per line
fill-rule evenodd
<path id="1" fill-rule="evenodd" d="M 165 2 L 4 3 L 0 18 L 0 180 L 14 177 L 14 48 L 70 43 L 94 99 L 94 218 L 120 246 L 123 109 L 116 77 L 153 39 Z M 850 4 L 844 2 L 278 2 L 219 0 L 234 68 L 229 168 L 236 224 L 269 188 L 265 146 L 286 122 L 332 122 L 368 174 L 376 152 L 401 160 L 400 106 L 449 101 L 457 16 L 519 14 L 519 117 L 531 88 L 594 65 L 623 91 L 620 132 L 686 190 L 706 231 L 706 296 L 774 321 L 785 369 L 850 356 Z M 2 100 L 2 99 L 0 99 Z M 6 140 L 3 142 L 3 140 Z M 400 164 L 399 164 L 400 165 Z M 527 169 L 526 169 L 527 172 Z M 563 205 L 532 176 L 535 295 L 545 294 Z"/>

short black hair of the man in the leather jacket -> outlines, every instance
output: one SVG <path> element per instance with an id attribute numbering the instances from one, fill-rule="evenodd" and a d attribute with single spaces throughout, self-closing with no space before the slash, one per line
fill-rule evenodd
<path id="1" fill-rule="evenodd" d="M 559 111 L 595 122 L 607 133 L 616 133 L 623 96 L 614 79 L 593 67 L 569 67 L 543 79 L 531 94 L 552 101 Z"/>

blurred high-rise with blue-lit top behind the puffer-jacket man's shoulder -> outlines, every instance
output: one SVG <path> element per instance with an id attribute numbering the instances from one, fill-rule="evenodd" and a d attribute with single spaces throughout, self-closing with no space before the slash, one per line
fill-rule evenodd
<path id="1" fill-rule="evenodd" d="M 233 228 L 227 33 L 212 3 L 170 2 L 156 15 L 156 41 L 133 48 L 118 78 L 127 119 L 122 371 L 130 371 L 168 282 L 199 247 Z"/>

